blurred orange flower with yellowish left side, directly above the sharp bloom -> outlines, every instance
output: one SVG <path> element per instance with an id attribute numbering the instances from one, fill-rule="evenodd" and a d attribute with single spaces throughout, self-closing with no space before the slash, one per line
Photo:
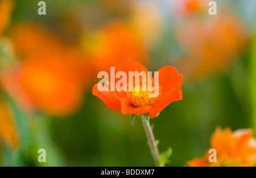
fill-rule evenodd
<path id="1" fill-rule="evenodd" d="M 97 74 L 110 66 L 122 66 L 128 61 L 146 61 L 143 39 L 133 28 L 124 23 L 110 23 L 95 35 L 81 41 L 82 49 Z"/>

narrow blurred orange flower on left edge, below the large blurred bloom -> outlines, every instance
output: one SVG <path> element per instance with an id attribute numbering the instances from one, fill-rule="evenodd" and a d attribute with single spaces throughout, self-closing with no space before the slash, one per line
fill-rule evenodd
<path id="1" fill-rule="evenodd" d="M 0 108 L 0 138 L 12 149 L 15 149 L 19 144 L 18 133 L 12 120 L 10 109 L 1 96 Z"/>

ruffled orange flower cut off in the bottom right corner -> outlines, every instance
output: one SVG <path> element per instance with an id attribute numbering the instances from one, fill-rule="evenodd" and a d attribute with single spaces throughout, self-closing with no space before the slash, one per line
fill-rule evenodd
<path id="1" fill-rule="evenodd" d="M 212 149 L 216 149 L 217 162 L 210 163 L 210 154 L 207 152 L 203 159 L 189 161 L 188 166 L 254 166 L 256 163 L 256 141 L 251 129 L 241 129 L 232 133 L 229 128 L 217 128 L 210 145 Z"/>

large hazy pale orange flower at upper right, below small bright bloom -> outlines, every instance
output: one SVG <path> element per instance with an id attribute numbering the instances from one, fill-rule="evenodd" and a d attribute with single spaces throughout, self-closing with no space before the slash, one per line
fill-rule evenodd
<path id="1" fill-rule="evenodd" d="M 176 38 L 185 57 L 181 72 L 191 77 L 224 71 L 241 55 L 247 29 L 237 16 L 222 14 L 205 21 L 194 19 L 177 29 Z"/>

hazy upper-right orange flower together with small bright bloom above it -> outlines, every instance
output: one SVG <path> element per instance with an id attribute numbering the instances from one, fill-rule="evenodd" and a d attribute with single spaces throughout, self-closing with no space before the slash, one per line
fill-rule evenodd
<path id="1" fill-rule="evenodd" d="M 189 78 L 226 71 L 232 62 L 241 59 L 249 39 L 242 19 L 218 6 L 218 14 L 208 13 L 207 1 L 184 1 L 177 15 L 175 38 L 184 50 L 177 65 Z"/>

